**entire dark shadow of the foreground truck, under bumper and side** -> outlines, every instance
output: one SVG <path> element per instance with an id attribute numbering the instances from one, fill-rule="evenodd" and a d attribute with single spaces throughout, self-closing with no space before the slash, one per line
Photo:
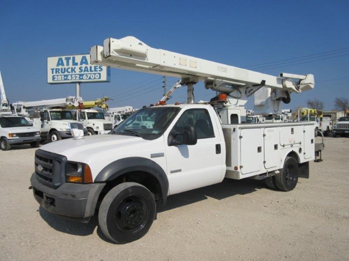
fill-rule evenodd
<path id="1" fill-rule="evenodd" d="M 205 200 L 208 197 L 212 197 L 218 200 L 231 197 L 234 195 L 244 195 L 252 193 L 257 189 L 265 188 L 264 183 L 254 179 L 233 180 L 224 179 L 223 182 L 190 190 L 180 194 L 175 194 L 168 197 L 167 203 L 163 207 L 159 207 L 157 212 L 163 212 L 171 210 L 177 207 L 189 205 L 201 200 Z M 73 220 L 68 220 L 56 216 L 44 208 L 39 208 L 40 216 L 46 223 L 53 229 L 77 236 L 88 236 L 93 234 L 97 227 L 97 235 L 105 242 L 116 244 L 105 237 L 98 226 L 98 217 L 94 216 L 87 223 L 81 223 Z"/>

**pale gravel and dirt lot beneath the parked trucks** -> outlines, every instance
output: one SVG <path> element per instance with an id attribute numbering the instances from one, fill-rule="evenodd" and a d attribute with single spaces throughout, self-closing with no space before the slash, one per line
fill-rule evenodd
<path id="1" fill-rule="evenodd" d="M 0 151 L 0 260 L 349 260 L 349 138 L 325 138 L 324 161 L 291 192 L 225 180 L 170 196 L 142 239 L 115 245 L 96 221 L 39 208 L 34 151 Z"/>

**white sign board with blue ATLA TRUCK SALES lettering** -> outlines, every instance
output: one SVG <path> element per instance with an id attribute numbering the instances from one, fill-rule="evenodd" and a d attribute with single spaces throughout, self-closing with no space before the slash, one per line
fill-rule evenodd
<path id="1" fill-rule="evenodd" d="M 90 64 L 90 55 L 47 57 L 47 83 L 110 82 L 110 68 Z"/>

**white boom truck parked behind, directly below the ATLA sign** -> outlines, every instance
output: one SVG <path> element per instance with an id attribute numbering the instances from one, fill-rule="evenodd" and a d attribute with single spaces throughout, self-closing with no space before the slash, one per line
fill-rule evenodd
<path id="1" fill-rule="evenodd" d="M 81 129 L 87 135 L 87 129 L 83 124 L 74 120 L 72 110 L 65 110 L 67 106 L 78 106 L 77 97 L 39 100 L 17 101 L 13 107 L 17 115 L 30 118 L 33 125 L 40 128 L 42 140 L 51 142 L 65 138 L 71 138 L 72 129 Z"/>

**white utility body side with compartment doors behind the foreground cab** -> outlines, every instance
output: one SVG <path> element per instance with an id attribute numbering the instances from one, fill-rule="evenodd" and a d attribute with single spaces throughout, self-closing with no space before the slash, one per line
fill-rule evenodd
<path id="1" fill-rule="evenodd" d="M 222 125 L 225 176 L 241 179 L 277 171 L 290 152 L 297 154 L 299 163 L 315 159 L 314 128 L 313 122 Z"/>

